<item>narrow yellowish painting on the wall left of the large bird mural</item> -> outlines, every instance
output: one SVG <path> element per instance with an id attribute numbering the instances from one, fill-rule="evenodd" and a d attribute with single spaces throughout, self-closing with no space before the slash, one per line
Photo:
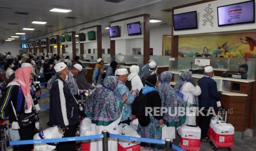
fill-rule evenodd
<path id="1" fill-rule="evenodd" d="M 162 35 L 162 55 L 170 56 L 172 53 L 172 36 L 171 34 Z"/>

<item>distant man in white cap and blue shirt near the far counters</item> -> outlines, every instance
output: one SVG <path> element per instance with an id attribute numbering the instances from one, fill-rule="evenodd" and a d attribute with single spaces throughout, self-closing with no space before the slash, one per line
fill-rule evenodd
<path id="1" fill-rule="evenodd" d="M 94 83 L 94 85 L 102 85 L 102 74 L 104 73 L 103 65 L 104 61 L 101 58 L 97 59 L 97 64 L 95 65 L 94 73 L 92 74 L 92 83 Z"/>

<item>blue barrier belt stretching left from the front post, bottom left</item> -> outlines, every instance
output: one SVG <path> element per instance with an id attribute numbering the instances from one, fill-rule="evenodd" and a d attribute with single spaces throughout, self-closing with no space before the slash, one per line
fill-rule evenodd
<path id="1" fill-rule="evenodd" d="M 10 145 L 22 145 L 22 144 L 41 144 L 41 143 L 57 143 L 57 142 L 70 142 L 70 141 L 85 141 L 103 138 L 103 135 L 91 135 L 80 137 L 64 137 L 64 138 L 51 138 L 45 140 L 24 140 L 24 141 L 10 141 Z"/>

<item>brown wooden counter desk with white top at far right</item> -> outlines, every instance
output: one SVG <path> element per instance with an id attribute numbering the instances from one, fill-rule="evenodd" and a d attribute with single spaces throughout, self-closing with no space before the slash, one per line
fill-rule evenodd
<path id="1" fill-rule="evenodd" d="M 171 85 L 175 85 L 179 80 L 182 71 L 171 71 L 173 79 Z M 193 74 L 192 83 L 202 78 L 203 74 Z M 253 85 L 255 80 L 213 77 L 217 83 L 217 89 L 222 91 L 220 102 L 221 105 L 228 109 L 227 121 L 235 127 L 235 131 L 243 132 L 250 127 L 250 122 L 253 122 L 251 115 L 254 115 L 252 110 Z"/>

